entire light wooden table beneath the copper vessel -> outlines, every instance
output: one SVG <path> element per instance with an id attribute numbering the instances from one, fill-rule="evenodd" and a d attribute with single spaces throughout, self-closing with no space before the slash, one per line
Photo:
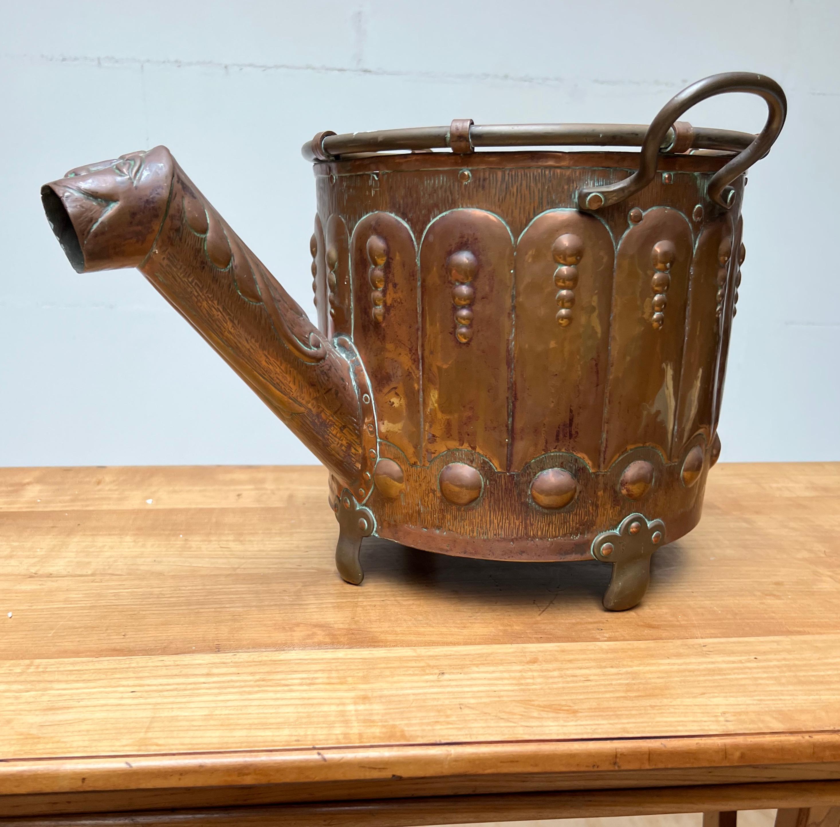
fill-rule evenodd
<path id="1" fill-rule="evenodd" d="M 322 468 L 0 471 L 0 824 L 840 819 L 840 463 L 715 468 L 624 613 L 337 533 Z"/>

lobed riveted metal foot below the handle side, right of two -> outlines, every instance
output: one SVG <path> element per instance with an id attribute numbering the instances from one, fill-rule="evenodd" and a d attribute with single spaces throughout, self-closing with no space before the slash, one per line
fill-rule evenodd
<path id="1" fill-rule="evenodd" d="M 650 583 L 650 557 L 664 542 L 665 524 L 642 514 L 625 517 L 615 531 L 603 531 L 592 541 L 592 557 L 612 563 L 612 578 L 604 608 L 633 609 Z"/>

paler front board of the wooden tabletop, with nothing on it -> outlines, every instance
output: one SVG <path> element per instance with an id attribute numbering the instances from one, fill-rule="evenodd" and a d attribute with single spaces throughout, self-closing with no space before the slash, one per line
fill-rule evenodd
<path id="1" fill-rule="evenodd" d="M 0 697 L 10 758 L 840 730 L 840 635 L 28 659 Z"/>

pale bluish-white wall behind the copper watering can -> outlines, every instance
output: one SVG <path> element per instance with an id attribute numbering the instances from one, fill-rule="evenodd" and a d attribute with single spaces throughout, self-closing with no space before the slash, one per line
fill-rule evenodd
<path id="1" fill-rule="evenodd" d="M 166 144 L 312 310 L 319 129 L 646 123 L 728 70 L 790 114 L 749 175 L 723 458 L 840 459 L 838 33 L 836 0 L 3 0 L 0 464 L 313 461 L 142 276 L 72 272 L 39 203 L 68 168 Z M 688 117 L 755 131 L 763 106 Z"/>

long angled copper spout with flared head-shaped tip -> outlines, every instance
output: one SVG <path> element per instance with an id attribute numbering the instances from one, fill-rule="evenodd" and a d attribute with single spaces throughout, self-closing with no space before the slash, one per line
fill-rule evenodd
<path id="1" fill-rule="evenodd" d="M 71 170 L 41 189 L 76 272 L 137 267 L 363 500 L 375 421 L 349 341 L 328 342 L 163 146 Z"/>

